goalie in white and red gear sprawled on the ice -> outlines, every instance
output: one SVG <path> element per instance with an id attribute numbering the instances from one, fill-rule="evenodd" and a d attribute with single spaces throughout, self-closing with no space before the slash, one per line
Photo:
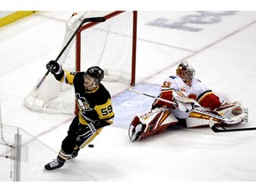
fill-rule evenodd
<path id="1" fill-rule="evenodd" d="M 176 69 L 176 76 L 169 76 L 162 84 L 157 100 L 148 113 L 135 116 L 129 127 L 130 140 L 141 140 L 153 134 L 163 132 L 173 124 L 182 124 L 188 128 L 210 124 L 239 124 L 247 120 L 247 113 L 239 102 L 221 104 L 220 98 L 195 78 L 195 69 L 183 61 Z M 230 121 L 207 116 L 224 116 Z M 209 113 L 208 113 L 209 115 Z"/>

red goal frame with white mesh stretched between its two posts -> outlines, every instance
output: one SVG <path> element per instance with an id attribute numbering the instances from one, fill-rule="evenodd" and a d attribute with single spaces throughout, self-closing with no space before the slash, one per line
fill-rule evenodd
<path id="1" fill-rule="evenodd" d="M 128 19 L 129 17 L 130 19 Z M 76 34 L 76 71 L 85 70 L 86 68 L 83 68 L 83 66 L 90 67 L 96 64 L 104 69 L 107 81 L 123 80 L 134 86 L 137 12 L 110 12 L 104 15 L 104 18 L 106 19 L 105 23 L 91 22 L 78 30 Z M 93 35 L 90 35 L 90 33 L 93 33 Z M 102 50 L 101 52 L 97 51 L 97 53 L 90 52 L 94 54 L 94 60 L 97 60 L 94 63 L 92 57 L 90 59 L 86 57 L 88 49 L 95 46 L 88 44 L 88 38 L 93 39 L 91 40 L 92 44 L 100 42 L 99 47 L 95 50 Z M 119 44 L 119 46 L 116 44 Z M 121 49 L 122 46 L 124 48 Z M 103 52 L 104 55 L 101 54 Z M 88 60 L 86 60 L 87 58 Z"/>

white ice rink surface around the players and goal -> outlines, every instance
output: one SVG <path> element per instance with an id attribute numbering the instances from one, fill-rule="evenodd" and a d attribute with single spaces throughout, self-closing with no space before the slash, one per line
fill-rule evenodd
<path id="1" fill-rule="evenodd" d="M 147 112 L 152 99 L 128 92 L 129 84 L 104 82 L 113 96 L 115 124 L 93 140 L 94 148 L 82 149 L 74 161 L 56 172 L 43 171 L 44 164 L 56 157 L 73 116 L 37 113 L 25 108 L 23 100 L 44 76 L 45 64 L 59 54 L 65 20 L 71 13 L 38 12 L 0 28 L 2 122 L 20 127 L 44 146 L 31 146 L 29 151 L 28 143 L 29 166 L 21 168 L 20 180 L 129 181 L 124 187 L 132 181 L 256 180 L 256 131 L 180 128 L 131 142 L 127 130 L 132 116 Z M 241 100 L 249 108 L 249 123 L 243 126 L 255 126 L 256 12 L 218 17 L 215 12 L 212 19 L 201 18 L 198 23 L 202 14 L 139 12 L 135 89 L 156 95 L 164 78 L 175 73 L 177 63 L 188 60 L 196 68 L 196 77 L 213 92 L 231 101 Z M 148 25 L 159 18 L 173 24 L 185 17 L 190 20 L 186 27 L 201 30 Z M 44 156 L 40 155 L 44 150 Z M 12 180 L 10 163 L 6 163 L 10 160 L 0 158 L 7 164 L 1 168 L 0 180 Z"/>

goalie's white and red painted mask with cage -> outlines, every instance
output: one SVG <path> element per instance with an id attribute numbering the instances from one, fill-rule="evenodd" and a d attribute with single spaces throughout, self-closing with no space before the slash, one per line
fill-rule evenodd
<path id="1" fill-rule="evenodd" d="M 196 75 L 196 70 L 187 61 L 182 61 L 176 69 L 176 75 L 180 76 L 184 82 L 191 82 Z"/>

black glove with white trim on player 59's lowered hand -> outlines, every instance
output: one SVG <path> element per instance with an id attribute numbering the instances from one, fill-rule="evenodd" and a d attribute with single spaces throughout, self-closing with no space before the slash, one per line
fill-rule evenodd
<path id="1" fill-rule="evenodd" d="M 85 141 L 92 137 L 92 135 L 96 132 L 95 127 L 92 123 L 87 125 L 82 125 L 79 127 L 78 131 L 76 132 L 76 140 L 77 141 Z"/>

